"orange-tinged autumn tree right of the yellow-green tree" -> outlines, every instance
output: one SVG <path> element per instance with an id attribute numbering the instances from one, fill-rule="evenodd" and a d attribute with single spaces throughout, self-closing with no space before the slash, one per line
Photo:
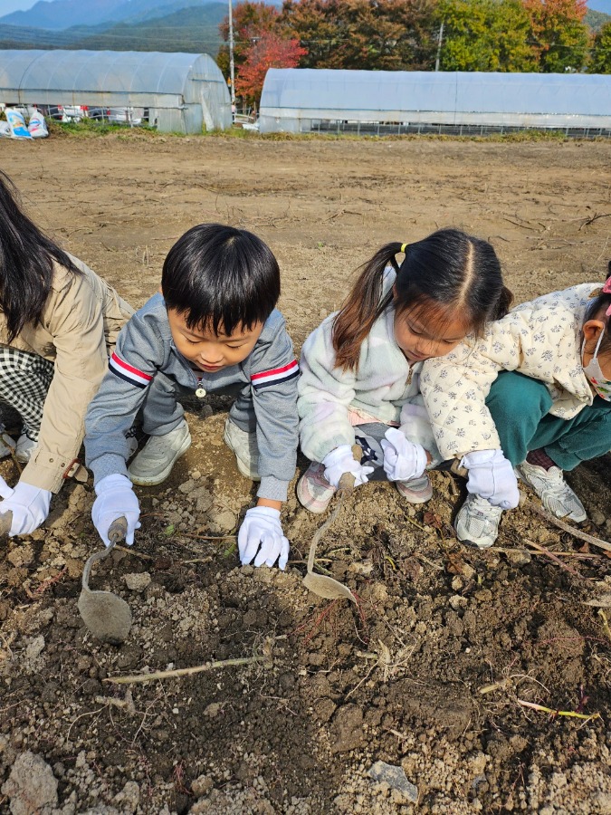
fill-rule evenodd
<path id="1" fill-rule="evenodd" d="M 524 0 L 530 39 L 539 71 L 580 71 L 587 60 L 589 34 L 583 22 L 586 0 Z"/>

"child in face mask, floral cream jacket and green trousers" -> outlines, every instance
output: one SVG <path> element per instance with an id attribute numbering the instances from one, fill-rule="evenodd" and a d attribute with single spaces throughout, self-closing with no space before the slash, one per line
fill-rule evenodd
<path id="1" fill-rule="evenodd" d="M 558 518 L 587 514 L 563 472 L 611 450 L 611 263 L 604 286 L 583 283 L 525 302 L 425 363 L 422 393 L 444 458 L 460 458 L 469 496 L 459 540 L 481 549 L 498 534 L 510 474 Z"/>

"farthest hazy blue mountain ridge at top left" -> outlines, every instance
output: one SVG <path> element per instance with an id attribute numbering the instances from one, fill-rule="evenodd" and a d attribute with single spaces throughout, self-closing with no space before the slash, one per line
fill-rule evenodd
<path id="1" fill-rule="evenodd" d="M 0 24 L 62 31 L 74 25 L 138 23 L 211 0 L 39 0 L 28 11 L 0 17 Z M 214 2 L 214 0 L 212 0 Z"/>

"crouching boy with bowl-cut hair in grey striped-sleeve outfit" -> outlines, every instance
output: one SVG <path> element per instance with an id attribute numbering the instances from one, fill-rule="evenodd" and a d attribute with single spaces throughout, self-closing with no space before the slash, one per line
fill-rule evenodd
<path id="1" fill-rule="evenodd" d="M 97 495 L 91 517 L 108 546 L 110 524 L 138 529 L 134 484 L 160 484 L 191 444 L 177 394 L 230 393 L 224 441 L 240 472 L 261 481 L 238 533 L 241 561 L 284 569 L 289 542 L 280 510 L 295 474 L 299 367 L 275 309 L 280 270 L 262 240 L 202 224 L 167 254 L 161 290 L 120 332 L 109 372 L 87 413 L 86 462 Z M 127 467 L 136 415 L 149 439 Z M 129 477 L 128 477 L 129 475 Z M 131 479 L 131 482 L 130 480 Z"/>

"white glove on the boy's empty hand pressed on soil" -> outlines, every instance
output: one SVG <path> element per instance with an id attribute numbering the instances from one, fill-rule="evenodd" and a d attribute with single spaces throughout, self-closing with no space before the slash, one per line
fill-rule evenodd
<path id="1" fill-rule="evenodd" d="M 238 532 L 238 549 L 243 566 L 254 558 L 254 566 L 263 563 L 273 566 L 278 561 L 278 567 L 285 569 L 289 560 L 289 540 L 282 532 L 280 510 L 271 506 L 249 509 Z"/>

